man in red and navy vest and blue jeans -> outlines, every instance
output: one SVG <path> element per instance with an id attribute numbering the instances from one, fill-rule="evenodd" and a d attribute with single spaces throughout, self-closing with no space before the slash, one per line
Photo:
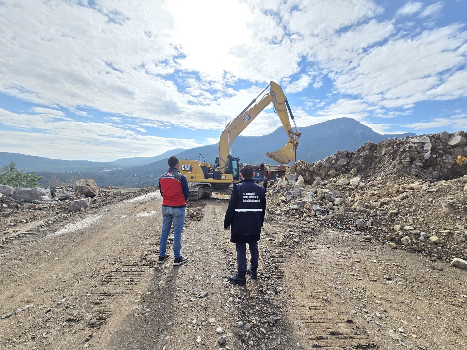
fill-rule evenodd
<path id="1" fill-rule="evenodd" d="M 174 265 L 182 265 L 188 258 L 181 255 L 182 231 L 185 224 L 185 203 L 190 196 L 188 181 L 178 168 L 180 162 L 175 155 L 169 157 L 169 169 L 159 177 L 159 190 L 162 196 L 162 233 L 159 245 L 158 264 L 169 259 L 167 251 L 167 238 L 170 227 L 174 224 Z"/>

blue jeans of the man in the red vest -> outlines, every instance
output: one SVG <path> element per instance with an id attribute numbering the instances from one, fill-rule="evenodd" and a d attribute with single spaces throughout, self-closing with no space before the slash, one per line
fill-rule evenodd
<path id="1" fill-rule="evenodd" d="M 169 238 L 170 226 L 174 223 L 174 257 L 180 258 L 182 248 L 182 231 L 185 224 L 185 208 L 162 207 L 162 233 L 159 245 L 159 256 L 165 256 L 167 251 L 167 238 Z"/>

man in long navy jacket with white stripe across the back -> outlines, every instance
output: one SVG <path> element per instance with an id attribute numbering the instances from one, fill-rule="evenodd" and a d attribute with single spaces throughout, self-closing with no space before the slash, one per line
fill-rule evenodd
<path id="1" fill-rule="evenodd" d="M 253 180 L 253 167 L 245 164 L 241 169 L 242 181 L 233 186 L 224 219 L 224 228 L 230 230 L 230 241 L 237 250 L 237 273 L 227 279 L 242 286 L 247 284 L 245 274 L 256 280 L 258 268 L 258 241 L 266 212 L 266 191 Z M 247 243 L 251 265 L 247 268 Z"/>

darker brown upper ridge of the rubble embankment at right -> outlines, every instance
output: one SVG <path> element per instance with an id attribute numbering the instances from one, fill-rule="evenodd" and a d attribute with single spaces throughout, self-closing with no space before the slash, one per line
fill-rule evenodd
<path id="1" fill-rule="evenodd" d="M 352 169 L 360 175 L 414 175 L 428 182 L 451 180 L 467 175 L 467 166 L 456 163 L 458 155 L 467 155 L 467 140 L 463 131 L 367 142 L 355 152 L 339 151 L 322 161 L 307 164 L 297 161 L 290 174 L 303 176 L 305 183 L 317 177 L 322 180 L 349 174 Z"/>

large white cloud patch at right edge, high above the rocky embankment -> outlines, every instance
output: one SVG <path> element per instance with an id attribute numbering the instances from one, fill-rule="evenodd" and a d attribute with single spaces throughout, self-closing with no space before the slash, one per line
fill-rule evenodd
<path id="1" fill-rule="evenodd" d="M 335 86 L 365 99 L 379 94 L 381 105 L 386 107 L 464 96 L 467 84 L 461 83 L 463 73 L 446 75 L 446 71 L 465 64 L 465 54 L 459 51 L 467 41 L 463 29 L 463 25 L 454 24 L 377 46 L 358 65 L 338 76 Z"/>

